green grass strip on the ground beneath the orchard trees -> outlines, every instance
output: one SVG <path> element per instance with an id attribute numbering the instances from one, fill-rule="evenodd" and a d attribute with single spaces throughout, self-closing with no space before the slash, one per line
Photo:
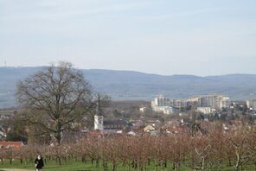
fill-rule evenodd
<path id="1" fill-rule="evenodd" d="M 10 165 L 7 161 L 5 161 L 5 163 L 3 163 L 3 165 L 0 164 L 0 171 L 3 171 L 3 169 L 1 168 L 23 168 L 23 169 L 28 169 L 28 170 L 35 170 L 34 168 L 34 164 L 33 163 L 29 163 L 27 165 L 23 164 L 21 165 L 19 163 L 19 161 L 14 161 L 12 165 Z M 109 164 L 108 166 L 108 170 L 112 170 L 112 165 Z M 69 160 L 67 162 L 64 162 L 61 166 L 57 163 L 55 163 L 54 161 L 50 161 L 46 164 L 46 166 L 43 168 L 44 171 L 100 171 L 103 170 L 101 168 L 101 166 L 99 165 L 99 167 L 97 168 L 95 165 L 92 165 L 91 163 L 87 162 L 87 163 L 82 163 L 81 161 L 73 161 L 73 160 Z M 118 171 L 123 171 L 123 170 L 128 170 L 128 167 L 122 167 L 122 166 L 118 166 L 117 168 Z M 131 171 L 135 171 L 137 169 L 131 169 Z M 147 166 L 147 171 L 154 171 L 154 166 L 150 165 Z M 161 168 L 158 167 L 158 170 L 160 171 Z M 167 168 L 164 168 L 165 171 L 170 171 L 171 169 L 171 165 L 169 164 L 167 166 Z M 191 168 L 185 168 L 185 167 L 181 167 L 180 169 L 181 171 L 193 171 L 193 169 Z M 209 170 L 209 169 L 206 169 Z M 212 169 L 214 170 L 214 169 Z M 234 171 L 234 167 L 230 167 L 227 168 L 226 166 L 223 166 L 221 168 L 221 171 Z M 247 167 L 246 171 L 254 171 L 254 167 Z"/>

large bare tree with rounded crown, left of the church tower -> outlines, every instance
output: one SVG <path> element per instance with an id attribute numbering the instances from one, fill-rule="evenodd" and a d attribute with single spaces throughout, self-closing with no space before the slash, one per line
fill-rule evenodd
<path id="1" fill-rule="evenodd" d="M 40 127 L 61 143 L 64 130 L 80 125 L 93 107 L 91 85 L 68 62 L 59 62 L 17 84 L 17 98 L 29 112 L 28 123 Z"/>

